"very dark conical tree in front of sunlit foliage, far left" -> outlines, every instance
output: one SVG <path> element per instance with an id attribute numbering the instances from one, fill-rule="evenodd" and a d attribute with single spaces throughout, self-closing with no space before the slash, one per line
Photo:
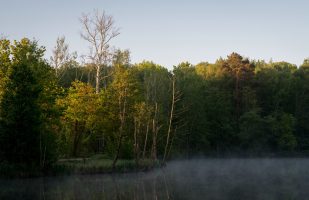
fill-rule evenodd
<path id="1" fill-rule="evenodd" d="M 27 64 L 12 66 L 0 113 L 0 142 L 4 159 L 19 164 L 40 164 L 42 111 L 38 104 L 42 91 Z"/>

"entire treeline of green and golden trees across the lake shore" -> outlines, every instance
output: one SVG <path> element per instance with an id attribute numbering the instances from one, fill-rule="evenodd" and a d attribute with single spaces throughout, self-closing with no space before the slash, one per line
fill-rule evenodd
<path id="1" fill-rule="evenodd" d="M 117 50 L 97 79 L 94 63 L 66 53 L 55 66 L 44 52 L 29 39 L 0 41 L 1 162 L 44 168 L 104 153 L 113 165 L 138 165 L 309 150 L 309 60 L 297 67 L 232 53 L 169 71 Z"/>

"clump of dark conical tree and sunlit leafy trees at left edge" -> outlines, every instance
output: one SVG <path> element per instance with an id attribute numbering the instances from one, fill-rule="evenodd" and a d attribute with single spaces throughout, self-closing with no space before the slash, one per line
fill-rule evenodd
<path id="1" fill-rule="evenodd" d="M 43 168 L 56 159 L 51 127 L 57 121 L 52 112 L 56 85 L 51 68 L 42 58 L 45 49 L 26 38 L 13 44 L 8 40 L 0 43 L 4 159 Z"/>

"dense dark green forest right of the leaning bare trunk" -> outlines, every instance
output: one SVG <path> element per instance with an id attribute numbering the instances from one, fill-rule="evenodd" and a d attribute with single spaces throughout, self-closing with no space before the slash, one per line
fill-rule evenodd
<path id="1" fill-rule="evenodd" d="M 187 109 L 175 149 L 193 155 L 308 151 L 306 66 L 236 53 L 215 64 L 180 64 L 174 73 Z"/>

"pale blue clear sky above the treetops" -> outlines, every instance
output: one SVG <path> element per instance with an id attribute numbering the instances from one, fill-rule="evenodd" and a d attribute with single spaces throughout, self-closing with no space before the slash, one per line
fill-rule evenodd
<path id="1" fill-rule="evenodd" d="M 250 59 L 300 65 L 309 57 L 308 0 L 0 0 L 0 34 L 35 38 L 49 58 L 65 36 L 70 51 L 85 55 L 82 13 L 112 15 L 132 63 L 167 68 L 183 61 L 215 62 L 237 52 Z"/>

